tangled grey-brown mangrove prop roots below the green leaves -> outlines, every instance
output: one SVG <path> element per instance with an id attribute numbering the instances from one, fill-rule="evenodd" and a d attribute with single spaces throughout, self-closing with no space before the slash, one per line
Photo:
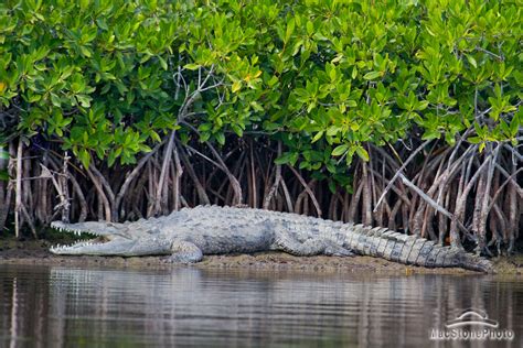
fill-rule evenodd
<path id="1" fill-rule="evenodd" d="M 182 120 L 183 122 L 183 120 Z M 192 128 L 198 133 L 196 128 Z M 354 160 L 348 192 L 328 188 L 297 166 L 275 164 L 284 144 L 269 139 L 235 140 L 223 148 L 182 143 L 174 132 L 136 165 L 88 168 L 58 149 L 10 143 L 11 180 L 0 182 L 0 227 L 14 219 L 32 231 L 57 215 L 71 220 L 126 220 L 217 203 L 310 214 L 369 225 L 386 225 L 478 252 L 512 252 L 523 209 L 521 157 L 511 146 L 458 141 L 453 148 L 425 141 L 391 155 L 367 146 L 369 162 Z M 63 153 L 62 153 L 63 154 Z M 420 161 L 421 160 L 421 161 Z M 324 173 L 328 173 L 327 171 Z M 53 211 L 51 207 L 56 207 Z"/>

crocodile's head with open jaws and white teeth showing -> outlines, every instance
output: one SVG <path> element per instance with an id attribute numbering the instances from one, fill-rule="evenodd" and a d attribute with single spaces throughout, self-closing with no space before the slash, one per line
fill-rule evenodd
<path id="1" fill-rule="evenodd" d="M 55 254 L 86 255 L 145 255 L 169 253 L 170 243 L 154 235 L 158 230 L 142 230 L 134 224 L 115 222 L 77 222 L 54 221 L 51 227 L 61 231 L 74 232 L 77 236 L 89 233 L 95 239 L 82 240 L 71 246 L 55 246 L 50 249 Z"/>

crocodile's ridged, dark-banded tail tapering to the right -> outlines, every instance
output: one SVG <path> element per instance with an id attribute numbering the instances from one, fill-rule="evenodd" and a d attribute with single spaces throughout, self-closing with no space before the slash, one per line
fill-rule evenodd
<path id="1" fill-rule="evenodd" d="M 427 268 L 458 267 L 479 272 L 493 272 L 492 263 L 489 260 L 468 253 L 462 249 L 440 247 L 425 238 L 394 232 L 386 228 L 355 225 L 348 236 L 348 244 L 361 254 L 404 264 Z"/>

